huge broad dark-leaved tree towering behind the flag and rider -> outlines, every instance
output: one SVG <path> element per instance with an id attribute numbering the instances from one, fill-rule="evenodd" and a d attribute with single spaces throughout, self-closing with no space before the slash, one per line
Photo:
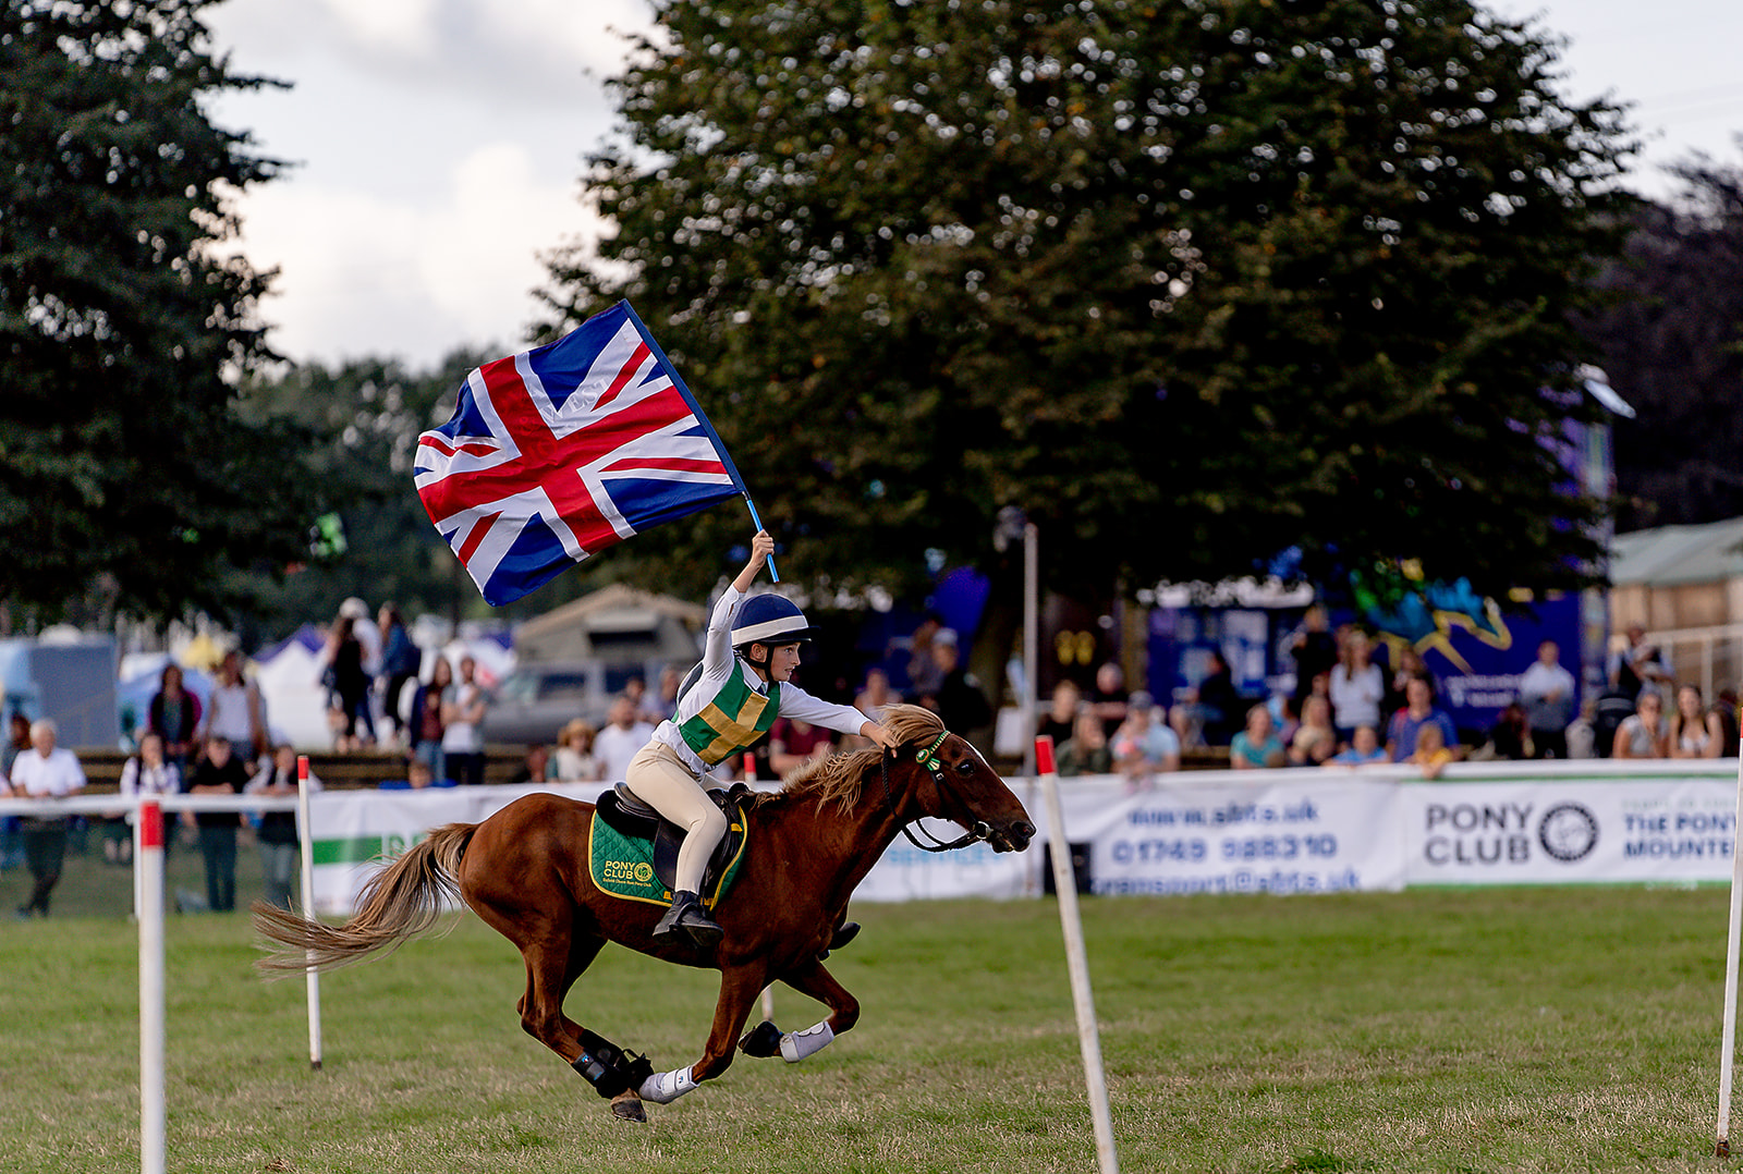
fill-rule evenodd
<path id="1" fill-rule="evenodd" d="M 992 566 L 1014 505 L 1067 589 L 1569 585 L 1546 388 L 1633 146 L 1556 57 L 1464 0 L 671 0 L 549 298 L 629 296 L 837 580 Z"/>

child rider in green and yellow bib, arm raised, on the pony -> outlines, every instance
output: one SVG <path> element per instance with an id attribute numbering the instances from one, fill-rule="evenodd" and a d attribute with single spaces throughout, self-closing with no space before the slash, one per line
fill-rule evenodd
<path id="1" fill-rule="evenodd" d="M 791 683 L 798 644 L 812 636 L 805 613 L 781 596 L 744 596 L 770 554 L 774 538 L 756 531 L 749 563 L 708 620 L 701 676 L 687 681 L 678 712 L 659 723 L 624 772 L 629 789 L 685 833 L 671 909 L 654 927 L 655 937 L 683 930 L 701 946 L 720 941 L 720 927 L 697 899 L 708 857 L 727 833 L 727 817 L 702 791 L 711 766 L 749 749 L 777 714 L 896 746 L 889 730 L 852 705 L 831 705 Z"/>

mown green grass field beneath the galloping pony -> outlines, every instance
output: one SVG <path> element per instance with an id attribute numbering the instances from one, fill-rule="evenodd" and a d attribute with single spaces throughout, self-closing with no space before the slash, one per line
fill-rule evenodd
<path id="1" fill-rule="evenodd" d="M 64 904 L 108 873 L 75 869 Z M 1093 1171 L 1055 904 L 856 916 L 835 960 L 856 1031 L 797 1066 L 741 1057 L 641 1127 L 521 1033 L 519 958 L 476 918 L 326 975 L 319 1073 L 303 984 L 254 977 L 246 918 L 171 918 L 169 1169 Z M 1736 1165 L 1710 1157 L 1724 890 L 1122 897 L 1084 916 L 1122 1171 Z M 132 927 L 0 934 L 0 1169 L 138 1169 Z M 675 1068 L 715 986 L 608 949 L 568 1010 Z M 784 988 L 776 1012 L 819 1017 Z"/>

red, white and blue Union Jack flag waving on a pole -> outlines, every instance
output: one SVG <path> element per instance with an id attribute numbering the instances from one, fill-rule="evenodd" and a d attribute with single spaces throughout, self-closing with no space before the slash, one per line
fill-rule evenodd
<path id="1" fill-rule="evenodd" d="M 413 479 L 492 606 L 648 526 L 746 493 L 627 301 L 467 374 L 453 418 L 418 437 Z"/>

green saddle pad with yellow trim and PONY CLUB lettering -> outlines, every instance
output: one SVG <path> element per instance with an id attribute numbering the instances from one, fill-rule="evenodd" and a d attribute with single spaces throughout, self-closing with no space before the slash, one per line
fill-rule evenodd
<path id="1" fill-rule="evenodd" d="M 748 820 L 737 803 L 737 793 L 711 791 L 709 798 L 727 817 L 727 834 L 709 857 L 702 890 L 697 894 L 702 906 L 713 909 L 739 873 L 748 841 Z M 683 843 L 678 829 L 666 820 L 626 810 L 621 796 L 614 793 L 600 796 L 598 815 L 587 833 L 587 874 L 593 883 L 612 897 L 669 906 L 678 848 Z"/>

